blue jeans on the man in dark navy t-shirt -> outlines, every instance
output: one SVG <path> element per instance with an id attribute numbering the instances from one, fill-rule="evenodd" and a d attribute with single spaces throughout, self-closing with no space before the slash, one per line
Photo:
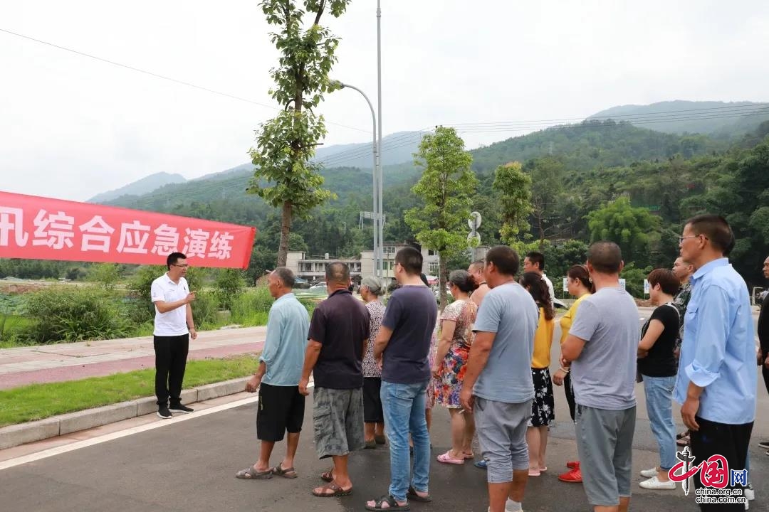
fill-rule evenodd
<path id="1" fill-rule="evenodd" d="M 424 418 L 427 382 L 396 384 L 382 380 L 380 397 L 384 411 L 384 431 L 390 441 L 390 489 L 396 500 L 406 500 L 410 457 L 408 434 L 414 441 L 414 477 L 411 486 L 428 491 L 430 479 L 430 434 Z"/>

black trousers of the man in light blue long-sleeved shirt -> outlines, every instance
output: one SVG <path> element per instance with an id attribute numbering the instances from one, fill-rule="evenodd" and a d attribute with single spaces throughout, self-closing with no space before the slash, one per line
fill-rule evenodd
<path id="1" fill-rule="evenodd" d="M 753 422 L 745 424 L 724 424 L 714 421 L 707 421 L 700 417 L 695 418 L 700 430 L 690 434 L 691 454 L 694 455 L 694 464 L 700 464 L 707 460 L 711 455 L 723 455 L 729 465 L 729 470 L 745 469 L 745 460 L 747 459 L 747 446 L 751 441 L 751 431 L 753 431 Z M 694 488 L 704 487 L 700 480 L 701 472 L 697 471 L 694 475 Z M 729 475 L 727 475 L 727 478 Z M 727 488 L 742 488 L 741 485 Z M 745 510 L 744 504 L 700 504 L 700 510 L 708 512 L 711 510 Z"/>

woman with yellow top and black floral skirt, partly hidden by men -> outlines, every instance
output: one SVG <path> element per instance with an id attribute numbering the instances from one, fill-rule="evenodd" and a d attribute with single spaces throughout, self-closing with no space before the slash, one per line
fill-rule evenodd
<path id="1" fill-rule="evenodd" d="M 548 447 L 548 428 L 555 419 L 553 384 L 550 380 L 550 347 L 555 329 L 555 311 L 550 298 L 548 283 L 535 272 L 521 277 L 521 286 L 531 293 L 539 306 L 539 323 L 534 332 L 534 354 L 531 357 L 531 380 L 534 382 L 534 401 L 531 402 L 531 419 L 526 430 L 529 449 L 529 476 L 538 477 L 548 471 L 544 463 L 544 451 Z"/>

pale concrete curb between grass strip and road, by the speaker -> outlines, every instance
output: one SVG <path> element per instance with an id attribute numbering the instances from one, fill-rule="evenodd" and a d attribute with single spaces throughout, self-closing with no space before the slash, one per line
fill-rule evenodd
<path id="1" fill-rule="evenodd" d="M 198 388 L 185 389 L 181 391 L 181 402 L 185 405 L 193 404 L 198 401 L 240 393 L 245 389 L 245 383 L 249 378 L 234 378 L 231 381 L 215 382 Z M 52 416 L 39 421 L 9 425 L 0 428 L 0 450 L 55 438 L 59 435 L 71 434 L 88 428 L 100 427 L 115 421 L 148 415 L 158 410 L 158 405 L 155 402 L 155 397 L 137 398 L 119 404 Z"/>

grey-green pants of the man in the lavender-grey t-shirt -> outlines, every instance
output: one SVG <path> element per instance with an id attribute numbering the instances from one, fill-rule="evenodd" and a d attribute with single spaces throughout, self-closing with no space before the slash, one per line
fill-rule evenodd
<path id="1" fill-rule="evenodd" d="M 588 503 L 618 505 L 630 497 L 635 406 L 611 411 L 578 404 L 574 424 Z"/>

